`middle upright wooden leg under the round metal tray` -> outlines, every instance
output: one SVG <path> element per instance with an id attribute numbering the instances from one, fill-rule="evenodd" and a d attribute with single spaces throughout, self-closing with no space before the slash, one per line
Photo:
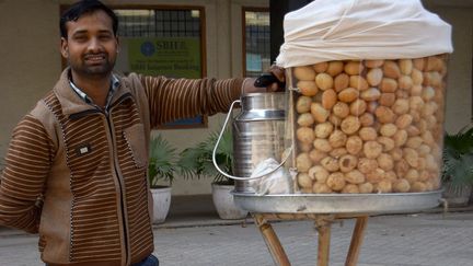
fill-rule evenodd
<path id="1" fill-rule="evenodd" d="M 318 266 L 328 266 L 331 225 L 334 216 L 320 216 L 315 219 L 319 232 Z"/>

